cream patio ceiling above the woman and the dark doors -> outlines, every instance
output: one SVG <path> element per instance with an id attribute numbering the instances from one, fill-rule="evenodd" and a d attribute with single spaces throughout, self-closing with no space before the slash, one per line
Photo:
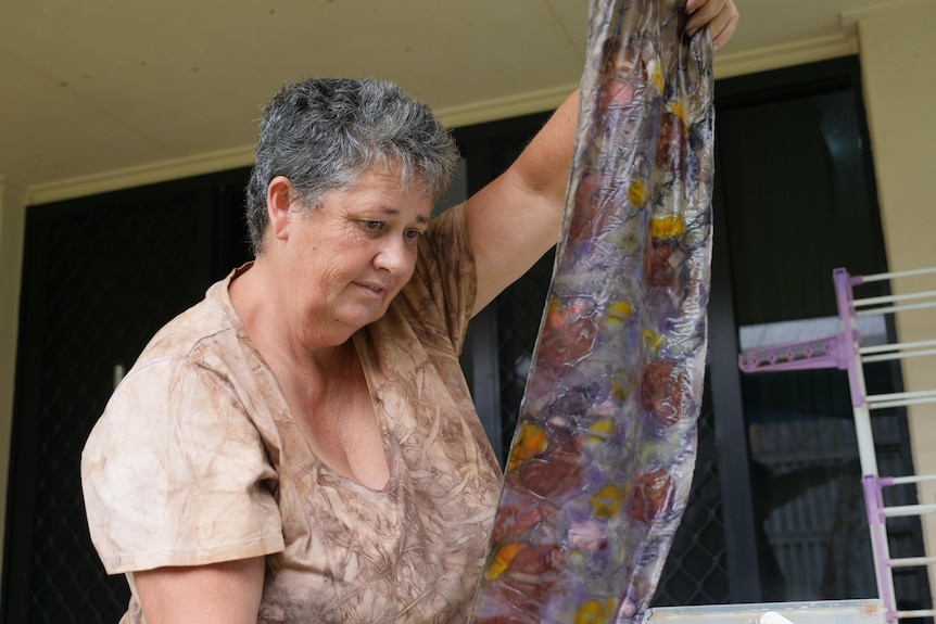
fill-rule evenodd
<path id="1" fill-rule="evenodd" d="M 869 12 L 936 0 L 736 0 L 725 77 L 857 51 Z M 4 0 L 0 181 L 30 190 L 250 163 L 287 79 L 371 75 L 451 126 L 574 88 L 587 0 Z"/>

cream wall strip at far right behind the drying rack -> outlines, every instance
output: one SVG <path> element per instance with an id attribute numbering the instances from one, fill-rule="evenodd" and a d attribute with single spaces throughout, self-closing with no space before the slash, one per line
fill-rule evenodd
<path id="1" fill-rule="evenodd" d="M 891 271 L 936 267 L 936 8 L 881 14 L 859 23 L 864 100 L 884 241 Z M 896 293 L 936 289 L 936 278 L 895 280 Z M 936 339 L 936 311 L 900 314 L 901 342 Z M 905 389 L 936 390 L 936 358 L 903 360 Z M 936 474 L 936 404 L 910 408 L 918 474 Z M 936 483 L 920 485 L 920 502 L 936 504 Z M 924 517 L 936 553 L 936 514 Z M 936 575 L 931 566 L 931 586 Z"/>

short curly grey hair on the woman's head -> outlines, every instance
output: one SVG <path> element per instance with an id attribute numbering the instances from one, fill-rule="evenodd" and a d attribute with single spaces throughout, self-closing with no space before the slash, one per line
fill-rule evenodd
<path id="1" fill-rule="evenodd" d="M 314 78 L 287 82 L 264 107 L 256 160 L 246 189 L 246 224 L 254 254 L 263 251 L 266 191 L 289 178 L 306 207 L 332 189 L 352 187 L 371 166 L 388 166 L 401 188 L 419 184 L 438 200 L 458 160 L 451 132 L 422 102 L 375 78 Z"/>

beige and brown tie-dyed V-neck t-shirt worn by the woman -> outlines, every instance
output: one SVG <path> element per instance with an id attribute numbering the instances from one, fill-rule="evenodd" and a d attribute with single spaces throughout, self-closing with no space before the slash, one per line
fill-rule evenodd
<path id="1" fill-rule="evenodd" d="M 230 279 L 153 338 L 87 442 L 106 571 L 132 590 L 137 570 L 265 555 L 260 622 L 464 622 L 501 485 L 458 364 L 476 291 L 464 213 L 433 221 L 412 282 L 354 336 L 384 430 L 383 491 L 312 454 Z M 142 622 L 132 594 L 125 623 Z"/>

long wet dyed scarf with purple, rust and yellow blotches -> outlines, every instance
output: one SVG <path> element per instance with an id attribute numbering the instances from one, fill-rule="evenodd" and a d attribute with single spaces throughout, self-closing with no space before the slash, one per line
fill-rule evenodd
<path id="1" fill-rule="evenodd" d="M 692 481 L 711 256 L 711 39 L 593 0 L 548 303 L 477 623 L 638 622 Z"/>

